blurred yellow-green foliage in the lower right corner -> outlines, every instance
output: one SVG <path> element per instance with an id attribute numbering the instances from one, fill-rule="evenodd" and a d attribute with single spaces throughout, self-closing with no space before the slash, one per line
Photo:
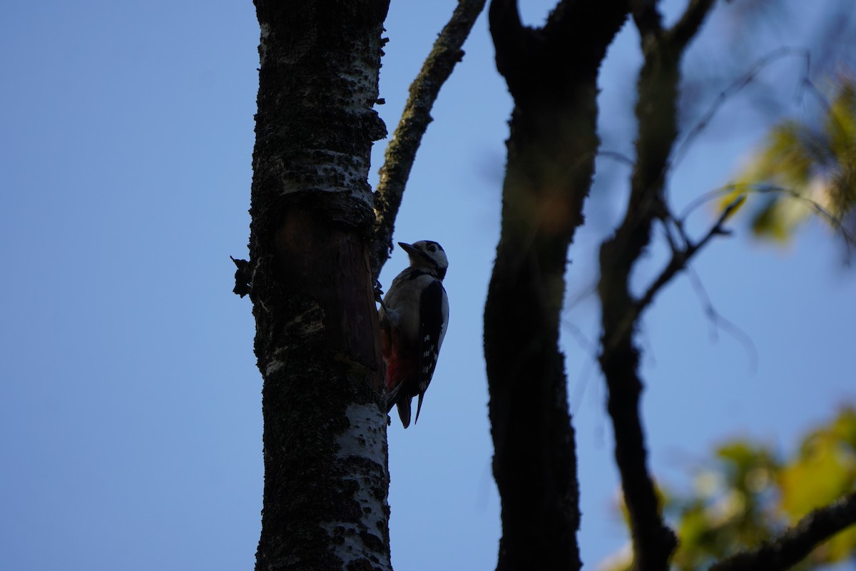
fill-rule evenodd
<path id="1" fill-rule="evenodd" d="M 758 547 L 812 509 L 856 489 L 856 407 L 844 407 L 828 424 L 803 437 L 783 457 L 763 443 L 734 439 L 716 448 L 693 477 L 692 491 L 661 489 L 663 514 L 681 544 L 672 560 L 680 571 L 707 569 L 734 553 Z M 627 514 L 623 505 L 625 525 Z M 856 561 L 856 526 L 817 547 L 794 569 Z M 630 554 L 610 557 L 603 571 L 625 571 Z"/>

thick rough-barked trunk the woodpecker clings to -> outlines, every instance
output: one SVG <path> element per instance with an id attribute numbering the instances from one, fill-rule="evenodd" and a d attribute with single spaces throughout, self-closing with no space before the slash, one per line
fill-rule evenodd
<path id="1" fill-rule="evenodd" d="M 256 568 L 388 569 L 389 474 L 369 262 L 386 0 L 256 0 L 250 283 L 264 377 Z"/>

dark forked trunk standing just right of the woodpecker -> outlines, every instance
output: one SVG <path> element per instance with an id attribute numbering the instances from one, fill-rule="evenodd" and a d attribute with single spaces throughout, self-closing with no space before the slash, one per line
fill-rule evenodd
<path id="1" fill-rule="evenodd" d="M 514 97 L 502 235 L 484 307 L 497 569 L 579 569 L 574 430 L 558 348 L 564 272 L 597 152 L 597 70 L 628 2 L 562 2 L 543 28 L 490 4 L 496 67 Z"/>

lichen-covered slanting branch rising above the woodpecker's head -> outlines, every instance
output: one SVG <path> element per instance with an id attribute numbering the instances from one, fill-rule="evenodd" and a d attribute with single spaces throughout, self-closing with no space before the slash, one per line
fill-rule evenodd
<path id="1" fill-rule="evenodd" d="M 383 264 L 392 252 L 392 233 L 395 217 L 401 207 L 401 195 L 416 158 L 422 136 L 431 122 L 431 107 L 443 83 L 449 79 L 455 64 L 464 52 L 461 46 L 467 39 L 473 23 L 484 9 L 485 0 L 459 0 L 449 23 L 434 42 L 431 53 L 425 58 L 422 69 L 410 86 L 401 120 L 392 140 L 386 147 L 380 181 L 374 194 L 375 229 L 372 243 L 372 277 L 377 279 Z"/>

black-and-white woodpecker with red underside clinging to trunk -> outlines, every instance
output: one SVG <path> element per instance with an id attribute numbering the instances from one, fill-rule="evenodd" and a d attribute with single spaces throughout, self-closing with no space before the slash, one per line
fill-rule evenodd
<path id="1" fill-rule="evenodd" d="M 395 277 L 379 312 L 381 348 L 386 364 L 386 412 L 398 405 L 405 428 L 410 425 L 410 401 L 422 397 L 431 383 L 437 355 L 449 325 L 449 297 L 443 277 L 449 260 L 437 242 L 398 242 L 410 257 L 410 267 Z"/>

